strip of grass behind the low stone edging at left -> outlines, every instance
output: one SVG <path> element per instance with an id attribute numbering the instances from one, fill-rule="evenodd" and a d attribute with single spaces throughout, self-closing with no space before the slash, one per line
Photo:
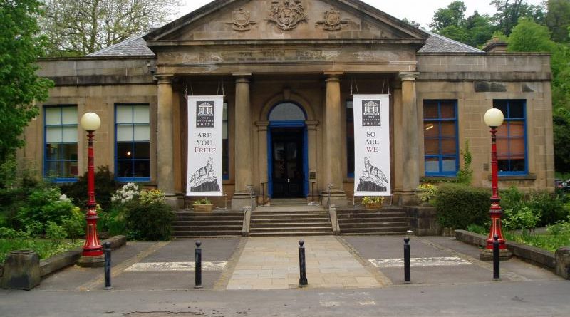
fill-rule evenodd
<path id="1" fill-rule="evenodd" d="M 60 243 L 53 243 L 48 239 L 0 239 L 0 263 L 4 263 L 6 254 L 14 250 L 33 250 L 38 253 L 40 259 L 48 259 L 50 256 L 63 253 L 65 251 L 83 246 L 84 240 L 75 241 L 64 240 Z"/>

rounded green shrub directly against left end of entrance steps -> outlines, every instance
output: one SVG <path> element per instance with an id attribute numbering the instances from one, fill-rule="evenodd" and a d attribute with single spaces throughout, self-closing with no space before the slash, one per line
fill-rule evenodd
<path id="1" fill-rule="evenodd" d="M 165 202 L 148 204 L 133 200 L 125 204 L 125 222 L 131 239 L 169 240 L 174 218 L 172 207 Z"/>

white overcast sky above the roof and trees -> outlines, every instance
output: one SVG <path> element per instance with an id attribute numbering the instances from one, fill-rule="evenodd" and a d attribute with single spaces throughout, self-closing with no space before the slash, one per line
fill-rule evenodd
<path id="1" fill-rule="evenodd" d="M 184 1 L 184 0 L 183 0 Z M 443 8 L 453 0 L 363 0 L 371 6 L 384 11 L 398 19 L 408 18 L 416 21 L 427 28 L 432 21 L 435 10 Z M 210 0 L 185 0 L 186 5 L 180 9 L 180 16 L 190 13 L 200 6 L 211 2 Z M 465 16 L 470 16 L 474 11 L 480 14 L 494 14 L 494 6 L 489 5 L 491 0 L 463 0 L 467 6 Z M 527 0 L 528 4 L 540 4 L 542 0 Z"/>

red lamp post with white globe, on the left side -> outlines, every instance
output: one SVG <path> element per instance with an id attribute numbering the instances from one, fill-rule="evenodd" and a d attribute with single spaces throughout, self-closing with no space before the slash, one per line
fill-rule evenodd
<path id="1" fill-rule="evenodd" d="M 93 164 L 93 139 L 95 130 L 101 125 L 101 120 L 96 113 L 86 113 L 81 117 L 81 128 L 87 131 L 88 140 L 88 165 L 87 165 L 87 194 L 86 204 L 87 229 L 86 241 L 83 245 L 83 253 L 78 261 L 80 266 L 103 266 L 103 246 L 99 242 L 97 235 L 97 202 L 95 202 L 95 167 Z"/>

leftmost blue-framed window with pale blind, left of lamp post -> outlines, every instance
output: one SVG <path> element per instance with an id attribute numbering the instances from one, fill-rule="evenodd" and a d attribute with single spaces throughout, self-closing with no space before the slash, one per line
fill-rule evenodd
<path id="1" fill-rule="evenodd" d="M 43 175 L 56 182 L 73 182 L 77 177 L 77 107 L 44 108 Z"/>

